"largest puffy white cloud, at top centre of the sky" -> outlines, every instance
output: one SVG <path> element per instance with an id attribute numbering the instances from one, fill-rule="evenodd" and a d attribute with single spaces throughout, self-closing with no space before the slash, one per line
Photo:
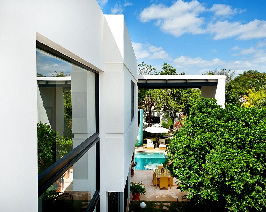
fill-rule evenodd
<path id="1" fill-rule="evenodd" d="M 155 25 L 160 26 L 163 32 L 179 37 L 184 33 L 202 34 L 205 32 L 201 27 L 204 18 L 198 17 L 205 10 L 198 1 L 176 1 L 172 6 L 152 4 L 142 10 L 140 21 L 148 22 L 156 20 Z"/>

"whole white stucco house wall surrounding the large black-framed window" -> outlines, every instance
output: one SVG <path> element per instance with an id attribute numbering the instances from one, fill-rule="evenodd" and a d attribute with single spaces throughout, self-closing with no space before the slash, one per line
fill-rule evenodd
<path id="1" fill-rule="evenodd" d="M 129 153 L 132 153 L 137 137 L 137 119 L 129 122 L 125 115 L 127 110 L 124 108 L 131 105 L 124 100 L 131 93 L 123 90 L 131 81 L 137 84 L 137 62 L 125 32 L 124 17 L 110 18 L 110 26 L 104 21 L 96 0 L 1 2 L 0 63 L 1 79 L 4 79 L 1 88 L 5 92 L 0 94 L 4 102 L 0 110 L 3 132 L 0 159 L 5 173 L 0 175 L 1 193 L 4 194 L 0 211 L 37 211 L 36 40 L 97 71 L 106 71 L 100 73 L 100 92 L 103 93 L 100 94 L 100 115 L 104 115 L 107 108 L 110 115 L 100 120 L 100 137 L 103 139 L 100 141 L 103 149 L 100 153 L 101 211 L 106 211 L 106 191 L 124 189 L 131 159 Z M 111 41 L 110 46 L 106 41 Z M 119 65 L 118 69 L 112 65 L 109 68 L 113 62 L 121 63 L 113 64 Z M 124 63 L 126 72 L 130 73 L 124 73 Z M 125 150 L 128 155 L 123 154 Z M 116 160 L 111 164 L 122 167 L 121 173 L 106 174 L 103 170 L 110 170 L 109 159 L 117 155 L 121 162 Z M 116 179 L 117 186 L 111 185 L 111 177 Z M 17 196 L 14 204 L 14 190 L 10 187 L 30 192 Z"/>

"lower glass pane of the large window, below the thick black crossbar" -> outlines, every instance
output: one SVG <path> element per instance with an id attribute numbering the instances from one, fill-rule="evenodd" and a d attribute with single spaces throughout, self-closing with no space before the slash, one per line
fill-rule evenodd
<path id="1" fill-rule="evenodd" d="M 67 172 L 43 193 L 38 211 L 85 211 L 96 191 L 96 147 L 83 155 Z M 88 165 L 90 169 L 81 170 Z M 82 175 L 80 174 L 82 172 Z"/>

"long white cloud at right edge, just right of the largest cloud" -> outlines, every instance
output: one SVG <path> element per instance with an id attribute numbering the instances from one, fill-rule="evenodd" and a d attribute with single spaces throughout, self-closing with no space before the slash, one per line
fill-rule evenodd
<path id="1" fill-rule="evenodd" d="M 208 31 L 214 34 L 214 40 L 237 37 L 241 40 L 266 37 L 266 21 L 254 20 L 247 24 L 240 22 L 218 21 L 208 25 Z"/>

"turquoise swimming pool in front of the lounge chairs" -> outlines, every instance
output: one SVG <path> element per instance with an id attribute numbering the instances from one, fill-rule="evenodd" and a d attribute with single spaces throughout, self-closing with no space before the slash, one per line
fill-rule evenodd
<path id="1" fill-rule="evenodd" d="M 162 151 L 135 152 L 135 161 L 137 161 L 136 170 L 157 169 L 157 166 L 165 161 L 165 155 Z"/>

